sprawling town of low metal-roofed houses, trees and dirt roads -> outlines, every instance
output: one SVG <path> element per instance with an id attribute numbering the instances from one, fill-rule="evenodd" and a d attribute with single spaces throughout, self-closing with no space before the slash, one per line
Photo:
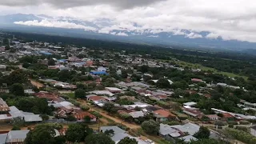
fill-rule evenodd
<path id="1" fill-rule="evenodd" d="M 158 49 L 0 43 L 0 144 L 256 143 L 250 76 Z"/>

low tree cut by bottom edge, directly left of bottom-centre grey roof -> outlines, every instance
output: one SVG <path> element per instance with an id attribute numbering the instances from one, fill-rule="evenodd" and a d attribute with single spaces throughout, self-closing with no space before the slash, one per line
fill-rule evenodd
<path id="1" fill-rule="evenodd" d="M 86 144 L 114 144 L 106 134 L 90 134 L 85 139 Z"/>

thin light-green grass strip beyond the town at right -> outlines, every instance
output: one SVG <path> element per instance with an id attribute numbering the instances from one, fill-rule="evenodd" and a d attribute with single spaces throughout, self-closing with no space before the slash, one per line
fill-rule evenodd
<path id="1" fill-rule="evenodd" d="M 231 77 L 231 78 L 235 78 L 235 77 L 242 77 L 244 79 L 248 79 L 248 77 L 243 76 L 243 75 L 238 75 L 238 74 L 233 74 L 233 73 L 228 73 L 228 72 L 224 72 L 224 71 L 219 71 L 216 70 L 214 68 L 211 67 L 206 67 L 206 66 L 202 66 L 201 64 L 198 63 L 190 63 L 190 62 L 183 62 L 183 61 L 175 61 L 176 64 L 182 66 L 182 67 L 190 67 L 190 68 L 194 68 L 194 69 L 200 69 L 200 70 L 204 70 L 204 71 L 213 71 L 214 74 L 222 74 L 222 75 L 226 75 L 227 77 Z"/>

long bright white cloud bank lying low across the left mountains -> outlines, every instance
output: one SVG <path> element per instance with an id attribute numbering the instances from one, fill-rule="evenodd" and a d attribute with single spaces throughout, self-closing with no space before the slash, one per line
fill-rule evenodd
<path id="1" fill-rule="evenodd" d="M 58 21 L 48 21 L 48 20 L 42 20 L 41 22 L 38 22 L 38 20 L 26 21 L 26 22 L 14 22 L 14 24 L 26 25 L 26 26 L 57 27 L 57 28 L 66 28 L 66 29 L 82 29 L 86 31 L 96 30 L 94 27 L 82 26 L 72 22 L 58 22 Z"/>

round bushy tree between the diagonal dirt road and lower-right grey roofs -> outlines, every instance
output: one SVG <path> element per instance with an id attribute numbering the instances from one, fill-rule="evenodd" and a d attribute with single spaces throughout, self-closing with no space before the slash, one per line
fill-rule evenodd
<path id="1" fill-rule="evenodd" d="M 160 124 L 154 120 L 145 121 L 142 122 L 142 130 L 144 130 L 147 134 L 158 134 Z"/>

